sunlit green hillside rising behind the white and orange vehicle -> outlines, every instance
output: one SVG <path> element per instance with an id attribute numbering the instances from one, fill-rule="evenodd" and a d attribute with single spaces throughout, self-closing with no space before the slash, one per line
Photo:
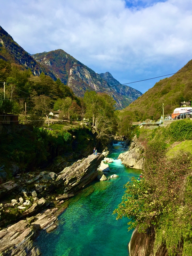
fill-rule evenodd
<path id="1" fill-rule="evenodd" d="M 120 113 L 123 115 L 127 112 L 138 121 L 147 118 L 158 119 L 162 115 L 164 103 L 164 114 L 171 114 L 180 106 L 181 101 L 192 99 L 192 70 L 190 69 L 192 69 L 192 60 L 178 73 L 160 80 Z M 188 71 L 182 72 L 185 70 Z"/>

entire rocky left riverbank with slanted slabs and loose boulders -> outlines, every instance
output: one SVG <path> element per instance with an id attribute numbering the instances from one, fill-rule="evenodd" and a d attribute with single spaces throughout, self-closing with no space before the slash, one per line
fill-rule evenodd
<path id="1" fill-rule="evenodd" d="M 40 172 L 37 175 L 28 173 L 2 184 L 0 255 L 40 255 L 33 241 L 38 230 L 50 232 L 57 227 L 58 208 L 98 176 L 97 169 L 105 155 L 92 154 L 65 168 L 58 175 L 54 172 Z M 5 201 L 4 196 L 7 197 Z M 10 218 L 10 222 L 19 222 L 3 228 L 7 218 Z"/>

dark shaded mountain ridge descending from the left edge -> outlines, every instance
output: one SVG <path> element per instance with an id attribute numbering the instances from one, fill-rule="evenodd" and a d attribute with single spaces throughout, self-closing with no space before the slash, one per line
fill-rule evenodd
<path id="1" fill-rule="evenodd" d="M 52 72 L 47 68 L 42 68 L 31 55 L 26 52 L 19 44 L 17 44 L 12 36 L 10 36 L 0 26 L 0 59 L 10 61 L 20 65 L 22 68 L 30 68 L 35 76 L 39 76 L 42 72 L 51 76 L 56 80 Z"/>

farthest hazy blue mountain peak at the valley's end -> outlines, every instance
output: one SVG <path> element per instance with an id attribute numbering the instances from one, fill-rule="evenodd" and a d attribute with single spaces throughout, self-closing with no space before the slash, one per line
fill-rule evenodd
<path id="1" fill-rule="evenodd" d="M 125 96 L 125 98 L 127 100 L 130 100 L 131 102 L 136 100 L 138 97 L 140 97 L 142 95 L 141 92 L 137 91 L 136 89 L 133 89 L 130 86 L 127 86 L 127 85 L 116 86 L 121 83 L 119 81 L 117 81 L 109 72 L 101 73 L 100 76 L 110 86 L 114 86 L 113 90 L 115 90 L 117 93 L 120 93 L 121 95 Z"/>

